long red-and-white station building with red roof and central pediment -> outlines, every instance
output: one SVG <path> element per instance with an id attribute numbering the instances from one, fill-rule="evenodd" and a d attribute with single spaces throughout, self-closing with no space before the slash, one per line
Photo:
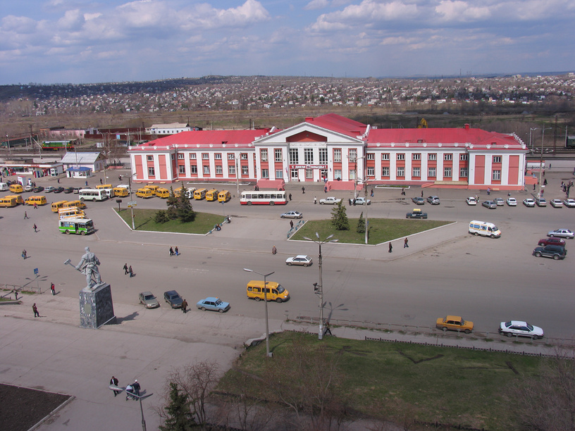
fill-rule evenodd
<path id="1" fill-rule="evenodd" d="M 335 114 L 279 130 L 192 130 L 130 146 L 135 182 L 523 189 L 524 142 L 469 125 L 378 129 Z"/>

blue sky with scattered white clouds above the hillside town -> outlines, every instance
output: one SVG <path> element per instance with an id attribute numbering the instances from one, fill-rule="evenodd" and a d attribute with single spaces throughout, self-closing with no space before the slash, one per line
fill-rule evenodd
<path id="1" fill-rule="evenodd" d="M 574 0 L 0 0 L 0 85 L 575 70 Z"/>

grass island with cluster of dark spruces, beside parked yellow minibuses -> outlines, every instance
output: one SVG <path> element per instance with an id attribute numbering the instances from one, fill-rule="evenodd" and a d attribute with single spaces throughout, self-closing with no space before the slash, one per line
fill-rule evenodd
<path id="1" fill-rule="evenodd" d="M 154 230 L 157 232 L 180 232 L 206 234 L 214 228 L 216 223 L 223 222 L 223 215 L 196 213 L 196 219 L 191 223 L 181 223 L 180 220 L 170 220 L 166 223 L 156 223 L 154 216 L 158 210 L 136 209 L 134 208 L 136 230 Z M 118 213 L 118 210 L 116 210 Z M 122 209 L 119 213 L 121 218 L 132 226 L 131 213 L 127 209 Z"/>

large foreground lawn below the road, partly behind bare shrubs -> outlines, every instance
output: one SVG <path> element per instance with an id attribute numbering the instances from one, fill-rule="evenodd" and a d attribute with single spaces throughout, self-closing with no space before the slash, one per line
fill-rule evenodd
<path id="1" fill-rule="evenodd" d="M 237 367 L 258 375 L 264 361 L 281 364 L 288 346 L 301 335 L 273 335 L 265 356 L 265 344 L 249 348 Z M 309 349 L 327 344 L 338 355 L 343 373 L 341 389 L 351 408 L 373 418 L 416 418 L 490 431 L 518 429 L 512 416 L 513 400 L 505 394 L 509 385 L 538 373 L 541 358 L 466 349 L 440 348 L 392 342 L 361 341 L 304 335 Z M 280 366 L 280 365 L 278 365 Z M 218 389 L 234 393 L 223 377 Z"/>

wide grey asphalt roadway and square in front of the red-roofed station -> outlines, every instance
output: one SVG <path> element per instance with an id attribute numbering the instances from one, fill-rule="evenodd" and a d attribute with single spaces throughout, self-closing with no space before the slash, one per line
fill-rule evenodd
<path id="1" fill-rule="evenodd" d="M 559 182 L 571 178 L 568 173 L 548 173 L 545 197 L 560 197 Z M 66 186 L 67 180 L 62 180 Z M 557 183 L 552 192 L 552 186 Z M 314 190 L 314 188 L 317 190 Z M 229 187 L 235 190 L 235 185 Z M 2 282 L 35 285 L 34 268 L 39 268 L 38 283 L 44 289 L 54 282 L 60 294 L 78 297 L 84 277 L 63 262 L 71 258 L 78 263 L 84 247 L 101 261 L 102 279 L 110 282 L 115 302 L 137 303 L 137 294 L 150 290 L 162 296 L 176 289 L 190 306 L 206 296 L 219 296 L 232 305 L 228 314 L 261 318 L 261 303 L 250 301 L 245 285 L 252 278 L 242 268 L 261 273 L 275 271 L 269 280 L 280 282 L 291 294 L 284 304 L 270 303 L 269 316 L 318 316 L 318 299 L 312 283 L 318 280 L 317 246 L 309 242 L 287 241 L 289 220 L 279 218 L 288 209 L 304 213 L 305 219 L 328 218 L 332 206 L 313 204 L 314 196 L 325 194 L 321 185 L 307 187 L 307 193 L 295 187 L 287 190 L 293 201 L 287 206 L 240 206 L 232 200 L 225 206 L 214 202 L 192 201 L 194 210 L 232 215 L 233 223 L 211 235 L 178 235 L 155 232 L 131 232 L 114 213 L 114 201 L 87 203 L 87 214 L 94 219 L 96 235 L 81 237 L 58 232 L 57 215 L 49 206 L 1 208 L 0 237 L 4 258 L 0 261 Z M 421 189 L 408 189 L 401 200 L 397 189 L 375 191 L 369 206 L 369 218 L 403 218 L 415 208 L 410 198 L 420 196 Z M 476 330 L 495 332 L 502 320 L 518 319 L 544 328 L 548 337 L 575 337 L 572 310 L 575 296 L 571 259 L 564 261 L 531 256 L 540 238 L 552 229 L 575 229 L 575 208 L 516 208 L 507 206 L 488 210 L 481 205 L 467 206 L 464 190 L 426 189 L 424 196 L 437 194 L 440 206 L 421 207 L 436 220 L 453 220 L 455 225 L 414 235 L 409 249 L 402 238 L 388 253 L 387 244 L 361 246 L 326 244 L 323 251 L 323 285 L 326 316 L 333 319 L 369 320 L 433 327 L 435 319 L 445 314 L 473 320 Z M 472 192 L 472 194 L 477 194 Z M 486 192 L 478 193 L 480 202 Z M 26 195 L 26 194 L 25 194 Z M 350 192 L 330 192 L 347 201 Z M 47 194 L 49 201 L 73 195 Z M 506 194 L 492 192 L 489 198 Z M 528 192 L 514 193 L 521 202 Z M 123 199 L 123 206 L 128 201 Z M 159 198 L 137 199 L 138 208 L 165 208 Z M 365 208 L 347 206 L 350 217 Z M 27 211 L 30 220 L 24 220 Z M 485 220 L 502 230 L 500 239 L 471 237 L 466 233 L 469 220 Z M 39 231 L 34 232 L 36 223 Z M 336 235 L 337 237 L 337 235 Z M 568 249 L 573 240 L 568 240 Z M 276 245 L 278 254 L 271 255 Z M 169 256 L 168 248 L 178 246 L 180 256 Z M 22 249 L 29 258 L 20 257 Z M 309 254 L 314 265 L 309 268 L 287 267 L 285 258 Z M 129 278 L 122 267 L 128 263 L 136 276 Z M 32 280 L 27 280 L 32 279 Z M 167 308 L 166 303 L 162 303 Z M 173 311 L 176 313 L 177 311 Z M 199 311 L 197 311 L 199 313 Z"/>

